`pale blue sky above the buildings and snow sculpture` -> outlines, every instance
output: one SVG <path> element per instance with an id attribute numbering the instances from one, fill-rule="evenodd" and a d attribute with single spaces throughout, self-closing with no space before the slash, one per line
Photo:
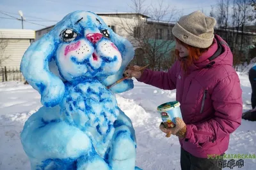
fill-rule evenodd
<path id="1" fill-rule="evenodd" d="M 146 0 L 146 3 L 151 4 L 152 1 Z M 157 2 L 157 0 L 154 1 Z M 211 5 L 216 5 L 217 2 L 215 0 L 164 0 L 164 4 L 168 4 L 170 9 L 180 10 L 176 17 L 195 10 L 204 10 L 208 15 Z M 131 0 L 0 0 L 0 29 L 21 29 L 21 21 L 15 19 L 20 18 L 19 10 L 22 10 L 27 20 L 24 22 L 24 29 L 37 30 L 56 24 L 72 11 L 132 12 L 129 7 L 131 5 Z"/>

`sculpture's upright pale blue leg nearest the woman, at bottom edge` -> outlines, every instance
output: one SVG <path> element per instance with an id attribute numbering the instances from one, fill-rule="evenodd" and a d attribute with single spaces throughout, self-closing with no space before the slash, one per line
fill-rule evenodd
<path id="1" fill-rule="evenodd" d="M 133 170 L 136 161 L 136 148 L 127 125 L 116 127 L 109 165 L 113 170 Z"/>

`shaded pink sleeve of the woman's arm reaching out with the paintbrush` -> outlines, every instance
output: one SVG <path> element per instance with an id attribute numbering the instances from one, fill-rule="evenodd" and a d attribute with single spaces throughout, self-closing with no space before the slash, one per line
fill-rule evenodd
<path id="1" fill-rule="evenodd" d="M 173 90 L 176 89 L 176 80 L 177 80 L 177 62 L 168 70 L 164 71 L 152 71 L 150 69 L 145 69 L 141 78 L 137 79 L 148 85 L 158 87 L 159 89 L 164 90 Z"/>

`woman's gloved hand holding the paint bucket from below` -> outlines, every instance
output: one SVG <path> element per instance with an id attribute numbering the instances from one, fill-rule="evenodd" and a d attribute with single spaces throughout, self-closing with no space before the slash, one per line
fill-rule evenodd
<path id="1" fill-rule="evenodd" d="M 186 127 L 186 124 L 184 123 L 184 121 L 182 120 L 182 118 L 175 118 L 176 119 L 176 125 L 175 127 L 172 127 L 172 128 L 165 128 L 163 123 L 161 123 L 159 125 L 159 129 L 166 133 L 166 137 L 169 138 L 171 136 L 171 134 L 175 135 L 175 136 L 178 136 L 179 138 L 185 138 L 186 136 L 186 130 L 187 130 L 187 127 Z"/>

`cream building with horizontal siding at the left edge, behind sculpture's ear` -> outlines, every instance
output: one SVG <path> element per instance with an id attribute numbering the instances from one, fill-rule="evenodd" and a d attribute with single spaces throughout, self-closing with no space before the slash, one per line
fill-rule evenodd
<path id="1" fill-rule="evenodd" d="M 35 31 L 28 29 L 0 29 L 0 66 L 20 67 L 24 52 L 35 39 Z"/>

